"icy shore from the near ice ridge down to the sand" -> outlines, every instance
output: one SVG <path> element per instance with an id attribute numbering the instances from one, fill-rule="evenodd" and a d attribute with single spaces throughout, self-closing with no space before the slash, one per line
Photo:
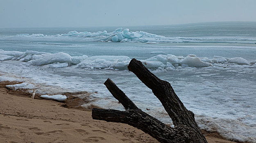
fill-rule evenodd
<path id="1" fill-rule="evenodd" d="M 158 53 L 160 52 L 156 54 Z M 137 82 L 138 79 L 132 73 L 122 70 L 127 69 L 130 57 L 88 57 L 70 56 L 63 52 L 50 54 L 0 50 L 0 59 L 0 71 L 6 72 L 4 76 L 0 76 L 0 81 L 24 82 L 10 88 L 32 91 L 40 87 L 37 93 L 48 95 L 59 94 L 56 89 L 60 93 L 97 91 L 97 94 L 90 96 L 93 104 L 106 109 L 119 109 L 120 105 L 103 85 L 104 80 L 111 77 L 141 109 L 150 107 L 149 111 L 146 110 L 147 113 L 171 124 L 163 108 L 159 107 L 161 103 L 154 95 L 151 96 L 152 92 L 144 88 L 141 82 Z M 205 58 L 193 54 L 163 55 L 161 52 L 141 61 L 161 79 L 174 81 L 172 86 L 175 87 L 175 92 L 184 105 L 195 113 L 201 129 L 218 132 L 233 141 L 256 141 L 255 113 L 251 112 L 255 109 L 253 93 L 256 60 L 249 62 L 244 58 L 220 56 Z M 141 91 L 140 96 L 138 91 Z"/>

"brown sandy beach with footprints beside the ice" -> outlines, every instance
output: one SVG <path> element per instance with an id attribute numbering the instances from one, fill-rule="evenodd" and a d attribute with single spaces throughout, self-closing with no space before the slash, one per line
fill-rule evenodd
<path id="1" fill-rule="evenodd" d="M 130 125 L 93 120 L 80 99 L 67 103 L 41 99 L 13 91 L 0 83 L 1 143 L 159 143 Z M 68 107 L 68 108 L 67 108 Z M 204 132 L 208 143 L 233 143 L 217 133 Z"/>

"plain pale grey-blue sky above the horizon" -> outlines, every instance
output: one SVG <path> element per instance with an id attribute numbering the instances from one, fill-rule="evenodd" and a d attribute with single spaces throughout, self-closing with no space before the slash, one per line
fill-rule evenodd
<path id="1" fill-rule="evenodd" d="M 254 21 L 256 0 L 0 0 L 0 28 Z"/>

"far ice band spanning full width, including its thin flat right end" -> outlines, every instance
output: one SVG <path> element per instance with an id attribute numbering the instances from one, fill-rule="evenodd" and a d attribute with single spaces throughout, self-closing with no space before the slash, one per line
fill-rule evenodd
<path id="1" fill-rule="evenodd" d="M 179 43 L 179 42 L 234 42 L 234 43 L 252 43 L 256 38 L 237 38 L 237 37 L 215 37 L 215 38 L 195 38 L 195 37 L 165 37 L 156 34 L 150 34 L 145 31 L 129 31 L 129 29 L 118 28 L 107 32 L 77 32 L 70 31 L 66 34 L 44 35 L 44 34 L 17 34 L 16 36 L 3 36 L 0 40 L 29 40 L 44 41 L 56 39 L 61 41 L 99 41 L 99 42 L 145 42 L 145 43 Z"/>

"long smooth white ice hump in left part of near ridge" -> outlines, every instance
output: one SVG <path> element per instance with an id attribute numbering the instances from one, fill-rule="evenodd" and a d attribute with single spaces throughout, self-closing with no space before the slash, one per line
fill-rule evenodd
<path id="1" fill-rule="evenodd" d="M 51 63 L 71 63 L 72 57 L 63 52 L 59 52 L 56 54 L 49 54 L 44 55 L 43 58 L 39 58 L 36 60 L 30 60 L 29 62 L 32 63 L 32 65 L 47 65 Z"/>

